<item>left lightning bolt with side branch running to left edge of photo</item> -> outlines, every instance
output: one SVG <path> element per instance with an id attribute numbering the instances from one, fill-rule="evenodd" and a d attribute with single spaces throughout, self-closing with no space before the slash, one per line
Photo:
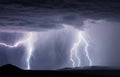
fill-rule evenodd
<path id="1" fill-rule="evenodd" d="M 33 34 L 32 32 L 29 32 L 26 36 L 26 38 L 24 38 L 23 40 L 19 40 L 17 41 L 14 45 L 8 45 L 6 43 L 0 43 L 0 45 L 8 47 L 8 48 L 15 48 L 18 47 L 19 45 L 25 45 L 26 46 L 26 50 L 27 50 L 27 55 L 26 55 L 26 62 L 27 62 L 27 69 L 30 69 L 30 58 L 32 56 L 32 52 L 33 52 L 33 38 L 35 34 Z"/>

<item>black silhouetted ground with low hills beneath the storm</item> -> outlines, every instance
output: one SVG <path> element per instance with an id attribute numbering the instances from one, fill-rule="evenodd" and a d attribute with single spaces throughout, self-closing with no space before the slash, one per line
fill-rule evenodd
<path id="1" fill-rule="evenodd" d="M 110 69 L 107 67 L 83 67 L 83 68 L 64 68 L 60 70 L 22 70 L 13 65 L 4 65 L 0 67 L 0 75 L 13 76 L 79 76 L 79 77 L 120 77 L 120 70 Z"/>

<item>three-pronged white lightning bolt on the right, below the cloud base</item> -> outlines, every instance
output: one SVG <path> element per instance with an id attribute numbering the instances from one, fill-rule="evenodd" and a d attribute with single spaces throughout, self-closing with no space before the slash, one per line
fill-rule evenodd
<path id="1" fill-rule="evenodd" d="M 83 31 L 79 31 L 78 32 L 78 34 L 77 34 L 77 36 L 78 36 L 78 39 L 77 39 L 77 41 L 73 44 L 73 46 L 72 46 L 72 49 L 71 49 L 71 56 L 70 56 L 70 60 L 72 61 L 72 66 L 73 67 L 75 67 L 75 64 L 76 64 L 76 62 L 74 61 L 74 57 L 77 59 L 77 61 L 78 61 L 78 64 L 77 64 L 77 66 L 79 67 L 80 66 L 80 63 L 81 63 L 81 61 L 80 61 L 80 58 L 79 58 L 79 55 L 78 55 L 78 48 L 79 48 L 79 45 L 81 44 L 81 42 L 84 42 L 85 43 L 85 48 L 84 48 L 84 50 L 85 50 L 85 55 L 86 55 L 86 57 L 88 58 L 88 60 L 89 60 L 89 65 L 91 66 L 92 65 L 92 60 L 91 60 L 91 58 L 89 57 L 89 53 L 88 53 L 88 46 L 89 46 L 89 44 L 88 44 L 88 42 L 86 41 L 86 39 L 85 39 L 85 37 L 83 36 Z"/>

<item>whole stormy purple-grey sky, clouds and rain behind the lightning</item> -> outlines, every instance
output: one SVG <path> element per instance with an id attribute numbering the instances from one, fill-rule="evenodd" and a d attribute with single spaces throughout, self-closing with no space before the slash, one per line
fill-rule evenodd
<path id="1" fill-rule="evenodd" d="M 83 31 L 92 66 L 120 68 L 119 8 L 117 0 L 0 0 L 0 43 L 14 45 L 33 33 L 30 43 L 0 45 L 0 66 L 26 69 L 29 46 L 32 70 L 72 67 L 70 51 Z M 84 47 L 77 48 L 80 67 L 89 66 Z"/>

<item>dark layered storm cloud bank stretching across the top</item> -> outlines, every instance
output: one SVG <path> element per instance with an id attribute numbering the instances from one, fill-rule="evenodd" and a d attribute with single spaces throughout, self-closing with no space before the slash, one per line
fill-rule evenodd
<path id="1" fill-rule="evenodd" d="M 1 29 L 43 30 L 59 29 L 62 24 L 76 28 L 86 19 L 119 21 L 120 2 L 78 0 L 2 0 L 0 4 Z M 17 27 L 16 27 L 17 26 Z"/>

